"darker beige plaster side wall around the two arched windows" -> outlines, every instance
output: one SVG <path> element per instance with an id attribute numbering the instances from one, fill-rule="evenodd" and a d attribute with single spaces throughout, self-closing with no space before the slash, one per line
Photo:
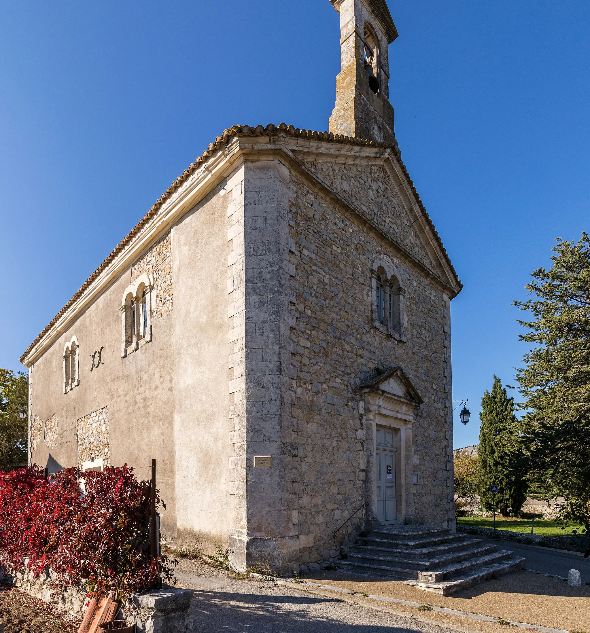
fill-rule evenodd
<path id="1" fill-rule="evenodd" d="M 166 239 L 159 242 L 154 249 L 161 249 L 165 242 Z M 164 265 L 169 256 L 168 237 L 168 256 L 162 258 Z M 152 249 L 138 258 L 140 266 L 142 260 L 154 260 Z M 172 296 L 170 273 L 160 274 L 159 269 L 155 272 L 156 295 Z M 164 281 L 160 283 L 160 280 Z M 153 315 L 152 341 L 121 358 L 119 309 L 130 282 L 129 269 L 80 314 L 30 368 L 33 438 L 30 459 L 47 467 L 49 472 L 78 466 L 84 453 L 83 438 L 78 447 L 78 420 L 90 420 L 92 414 L 96 417 L 96 412 L 104 413 L 108 408 L 108 419 L 103 417 L 97 429 L 103 434 L 103 440 L 108 434 L 110 465 L 127 463 L 137 468 L 138 479 L 149 479 L 151 459 L 156 459 L 156 481 L 166 503 L 162 526 L 173 532 L 176 527 L 173 311 L 162 311 L 160 318 Z M 172 306 L 171 301 L 167 304 Z M 63 349 L 74 335 L 80 346 L 80 384 L 64 394 Z M 102 363 L 91 370 L 91 356 L 101 347 L 104 348 Z"/>

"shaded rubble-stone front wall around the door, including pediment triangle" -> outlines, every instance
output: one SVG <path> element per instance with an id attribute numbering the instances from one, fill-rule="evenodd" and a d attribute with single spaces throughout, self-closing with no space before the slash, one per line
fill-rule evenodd
<path id="1" fill-rule="evenodd" d="M 372 215 L 421 261 L 427 261 L 386 171 L 380 167 L 315 163 L 311 170 Z M 365 429 L 359 386 L 377 370 L 399 365 L 424 404 L 413 422 L 415 523 L 453 527 L 449 301 L 413 266 L 397 261 L 322 197 L 291 178 L 289 223 L 295 252 L 291 338 L 296 370 L 292 406 L 291 481 L 296 495 L 301 563 L 335 554 L 332 532 L 365 501 Z M 371 325 L 371 267 L 390 256 L 406 289 L 407 342 Z M 368 439 L 368 438 L 367 438 Z M 360 527 L 360 525 L 358 526 Z M 358 529 L 358 528 L 357 528 Z"/>

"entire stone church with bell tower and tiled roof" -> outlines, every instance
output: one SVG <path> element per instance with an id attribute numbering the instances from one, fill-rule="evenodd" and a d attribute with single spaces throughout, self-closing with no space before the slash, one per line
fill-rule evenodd
<path id="1" fill-rule="evenodd" d="M 238 569 L 315 567 L 378 525 L 455 531 L 461 282 L 394 136 L 386 2 L 330 1 L 330 131 L 225 130 L 21 359 L 30 463 L 147 479 L 156 458 L 163 530 Z"/>

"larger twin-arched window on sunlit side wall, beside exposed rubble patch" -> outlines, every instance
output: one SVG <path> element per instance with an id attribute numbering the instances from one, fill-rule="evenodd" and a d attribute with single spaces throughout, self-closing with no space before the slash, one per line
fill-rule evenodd
<path id="1" fill-rule="evenodd" d="M 151 291 L 153 282 L 144 274 L 127 286 L 121 303 L 121 356 L 141 348 L 151 341 Z"/>

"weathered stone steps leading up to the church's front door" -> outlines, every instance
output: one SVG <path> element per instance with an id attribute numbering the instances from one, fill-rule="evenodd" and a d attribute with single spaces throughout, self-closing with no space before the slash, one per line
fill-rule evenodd
<path id="1" fill-rule="evenodd" d="M 446 528 L 392 525 L 359 537 L 339 567 L 446 595 L 494 574 L 522 569 L 524 559 Z"/>

